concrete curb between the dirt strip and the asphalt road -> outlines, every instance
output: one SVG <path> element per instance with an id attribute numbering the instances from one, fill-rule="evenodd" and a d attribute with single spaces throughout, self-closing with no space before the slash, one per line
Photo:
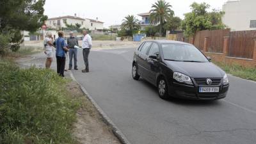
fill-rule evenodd
<path id="1" fill-rule="evenodd" d="M 74 77 L 73 73 L 70 71 L 70 77 L 73 81 L 76 81 L 76 78 Z M 120 129 L 118 129 L 118 127 L 116 127 L 116 125 L 112 122 L 112 120 L 108 117 L 108 115 L 106 113 L 104 113 L 104 111 L 100 108 L 100 106 L 95 102 L 95 100 L 93 100 L 93 98 L 89 95 L 89 93 L 86 91 L 86 89 L 78 82 L 76 81 L 77 84 L 79 84 L 82 92 L 86 95 L 86 97 L 92 102 L 93 106 L 95 106 L 95 108 L 97 109 L 97 111 L 99 112 L 100 116 L 102 116 L 103 118 L 103 122 L 105 124 L 107 124 L 108 126 L 111 127 L 111 131 L 113 132 L 113 134 L 116 136 L 116 138 L 118 138 L 118 140 L 122 143 L 122 144 L 131 144 L 127 138 L 124 136 L 124 134 L 120 131 Z"/>

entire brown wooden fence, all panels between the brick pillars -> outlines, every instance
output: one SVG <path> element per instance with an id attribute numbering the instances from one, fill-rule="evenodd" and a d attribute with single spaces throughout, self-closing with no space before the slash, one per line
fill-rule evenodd
<path id="1" fill-rule="evenodd" d="M 229 37 L 227 56 L 235 58 L 253 59 L 256 31 L 231 31 L 218 29 L 214 31 L 198 31 L 195 36 L 185 38 L 183 33 L 177 34 L 177 40 L 194 44 L 204 51 L 205 38 L 207 38 L 207 52 L 223 52 L 224 37 Z"/>

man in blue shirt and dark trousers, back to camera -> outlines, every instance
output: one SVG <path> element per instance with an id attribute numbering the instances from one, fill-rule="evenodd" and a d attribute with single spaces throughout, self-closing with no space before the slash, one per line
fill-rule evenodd
<path id="1" fill-rule="evenodd" d="M 63 38 L 64 32 L 58 31 L 59 38 L 56 40 L 57 73 L 64 77 L 65 61 L 68 52 L 67 44 Z"/>

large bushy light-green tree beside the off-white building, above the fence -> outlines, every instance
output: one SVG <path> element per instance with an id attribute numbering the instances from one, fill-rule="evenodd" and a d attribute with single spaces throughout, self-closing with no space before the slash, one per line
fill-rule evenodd
<path id="1" fill-rule="evenodd" d="M 181 24 L 186 36 L 195 35 L 196 31 L 225 28 L 225 25 L 221 21 L 224 12 L 221 12 L 220 10 L 207 12 L 209 8 L 210 5 L 206 3 L 191 4 L 192 12 L 185 14 L 185 19 Z"/>

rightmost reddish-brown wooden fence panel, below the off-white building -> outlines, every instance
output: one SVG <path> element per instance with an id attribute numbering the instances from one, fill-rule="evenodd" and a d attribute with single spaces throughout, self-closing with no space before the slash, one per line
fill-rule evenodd
<path id="1" fill-rule="evenodd" d="M 229 37 L 228 56 L 253 58 L 256 31 L 232 31 Z"/>

